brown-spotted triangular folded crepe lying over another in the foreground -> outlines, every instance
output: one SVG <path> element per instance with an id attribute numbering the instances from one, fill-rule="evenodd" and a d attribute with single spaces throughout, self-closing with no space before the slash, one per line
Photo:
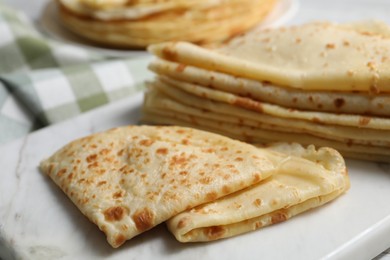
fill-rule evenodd
<path id="1" fill-rule="evenodd" d="M 256 184 L 275 166 L 267 150 L 246 143 L 153 126 L 75 140 L 40 165 L 113 247 L 179 212 Z"/>

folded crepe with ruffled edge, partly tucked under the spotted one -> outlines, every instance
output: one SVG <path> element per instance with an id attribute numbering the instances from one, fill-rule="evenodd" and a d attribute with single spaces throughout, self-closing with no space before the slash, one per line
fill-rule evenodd
<path id="1" fill-rule="evenodd" d="M 271 177 L 171 218 L 167 225 L 176 239 L 206 242 L 239 235 L 283 222 L 348 190 L 344 160 L 335 150 L 305 150 L 297 144 L 276 149 L 292 155 L 279 158 L 278 171 Z"/>

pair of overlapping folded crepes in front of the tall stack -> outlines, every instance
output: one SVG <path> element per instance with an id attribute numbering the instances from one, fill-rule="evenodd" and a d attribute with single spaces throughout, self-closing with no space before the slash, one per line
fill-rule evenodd
<path id="1" fill-rule="evenodd" d="M 113 247 L 164 221 L 182 242 L 231 237 L 349 188 L 343 157 L 333 149 L 261 149 L 174 126 L 96 133 L 65 145 L 41 169 Z"/>

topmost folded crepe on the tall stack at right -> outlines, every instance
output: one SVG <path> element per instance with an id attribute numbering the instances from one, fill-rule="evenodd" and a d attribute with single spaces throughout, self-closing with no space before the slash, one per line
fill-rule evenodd
<path id="1" fill-rule="evenodd" d="M 286 88 L 380 93 L 390 92 L 389 46 L 390 39 L 378 33 L 311 23 L 248 33 L 216 50 L 171 42 L 150 46 L 149 51 L 166 60 Z"/>

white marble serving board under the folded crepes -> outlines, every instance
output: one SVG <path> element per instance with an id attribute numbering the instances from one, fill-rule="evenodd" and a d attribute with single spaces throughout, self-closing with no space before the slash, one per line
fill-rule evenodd
<path id="1" fill-rule="evenodd" d="M 112 249 L 37 166 L 75 138 L 137 123 L 141 102 L 138 94 L 0 147 L 0 257 L 370 259 L 390 245 L 390 165 L 350 160 L 350 191 L 289 221 L 199 244 L 181 244 L 160 225 Z"/>

